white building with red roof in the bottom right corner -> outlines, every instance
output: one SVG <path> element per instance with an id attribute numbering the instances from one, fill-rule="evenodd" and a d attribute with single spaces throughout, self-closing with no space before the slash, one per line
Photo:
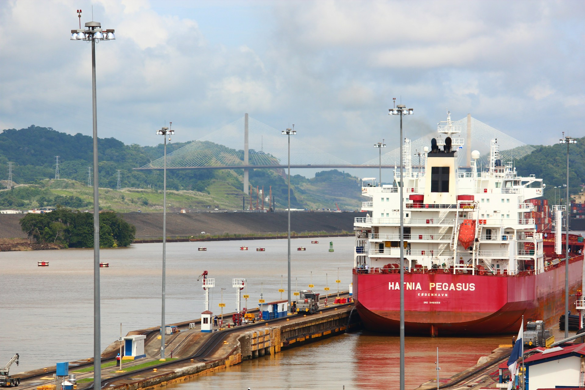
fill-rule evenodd
<path id="1" fill-rule="evenodd" d="M 524 359 L 526 390 L 582 387 L 585 344 L 548 348 Z"/>

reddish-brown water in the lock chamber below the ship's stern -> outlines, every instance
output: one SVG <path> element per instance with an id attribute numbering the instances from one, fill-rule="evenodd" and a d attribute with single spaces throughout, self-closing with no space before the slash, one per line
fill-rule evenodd
<path id="1" fill-rule="evenodd" d="M 484 339 L 407 337 L 405 388 L 414 389 L 473 365 L 481 356 L 508 340 L 508 336 Z M 190 382 L 168 386 L 173 390 L 209 389 L 398 389 L 400 388 L 398 337 L 350 333 L 292 348 L 204 375 Z M 316 379 L 319 378 L 319 379 Z"/>

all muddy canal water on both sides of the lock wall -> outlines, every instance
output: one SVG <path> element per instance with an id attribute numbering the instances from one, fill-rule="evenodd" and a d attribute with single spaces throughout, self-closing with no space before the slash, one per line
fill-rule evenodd
<path id="1" fill-rule="evenodd" d="M 329 252 L 329 241 L 335 251 Z M 239 250 L 244 244 L 247 251 Z M 353 237 L 291 240 L 292 290 L 315 285 L 347 290 L 351 282 Z M 207 251 L 198 251 L 199 246 Z M 306 251 L 297 251 L 297 247 Z M 266 251 L 256 251 L 264 247 Z M 134 244 L 102 249 L 102 350 L 130 330 L 160 324 L 162 244 Z M 49 261 L 49 267 L 37 267 Z M 32 370 L 93 355 L 93 250 L 67 249 L 0 253 L 0 365 L 20 354 L 12 372 Z M 204 270 L 215 278 L 210 309 L 219 314 L 236 306 L 232 278 L 246 278 L 247 304 L 257 306 L 281 298 L 287 285 L 287 240 L 167 243 L 166 323 L 196 319 L 204 310 L 204 292 L 197 281 Z M 339 272 L 339 274 L 338 274 Z M 286 296 L 283 296 L 286 299 Z M 246 302 L 242 299 L 242 306 Z M 448 378 L 490 354 L 510 337 L 446 339 L 407 337 L 407 388 L 436 377 L 439 347 L 440 377 Z M 394 388 L 398 378 L 398 337 L 353 333 L 293 348 L 277 356 L 245 362 L 226 372 L 197 379 L 215 389 L 308 388 L 315 375 L 326 378 L 322 388 Z M 240 375 L 245 374 L 245 375 Z M 253 378 L 253 382 L 250 382 Z M 309 386 L 311 385 L 311 386 Z M 191 388 L 195 382 L 177 385 Z"/>

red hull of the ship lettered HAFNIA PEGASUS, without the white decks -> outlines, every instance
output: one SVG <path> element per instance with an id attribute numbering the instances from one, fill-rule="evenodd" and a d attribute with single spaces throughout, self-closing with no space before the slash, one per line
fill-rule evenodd
<path id="1" fill-rule="evenodd" d="M 581 288 L 583 258 L 569 264 L 569 294 Z M 522 320 L 556 326 L 565 310 L 565 266 L 541 274 L 404 274 L 405 333 L 442 336 L 515 332 Z M 353 297 L 368 330 L 398 333 L 400 274 L 354 270 Z M 569 310 L 574 308 L 570 297 Z"/>

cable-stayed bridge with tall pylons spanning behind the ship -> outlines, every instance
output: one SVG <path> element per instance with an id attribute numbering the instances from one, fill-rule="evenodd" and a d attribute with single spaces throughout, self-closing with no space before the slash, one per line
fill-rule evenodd
<path id="1" fill-rule="evenodd" d="M 520 158 L 529 154 L 534 148 L 518 141 L 472 118 L 453 122 L 461 126 L 461 136 L 466 144 L 487 154 L 490 140 L 496 137 L 500 144 L 503 158 Z M 411 141 L 411 161 L 416 163 L 417 153 L 424 146 L 430 146 L 431 138 L 439 134 L 432 133 L 418 140 Z M 373 145 L 373 143 L 372 143 Z M 305 143 L 295 136 L 290 136 L 291 168 L 379 168 L 379 158 L 373 158 L 363 164 L 355 164 L 333 156 Z M 467 151 L 466 149 L 469 149 Z M 459 154 L 459 165 L 469 166 L 470 151 L 468 147 Z M 373 153 L 375 153 L 373 151 Z M 466 157 L 467 156 L 467 157 Z M 243 169 L 244 191 L 248 192 L 248 173 L 250 169 L 287 168 L 288 141 L 281 130 L 274 129 L 247 114 L 229 125 L 221 127 L 198 140 L 167 154 L 167 169 Z M 395 168 L 400 164 L 399 149 L 390 150 L 381 157 L 382 168 Z M 163 157 L 151 161 L 137 170 L 163 169 Z"/>

